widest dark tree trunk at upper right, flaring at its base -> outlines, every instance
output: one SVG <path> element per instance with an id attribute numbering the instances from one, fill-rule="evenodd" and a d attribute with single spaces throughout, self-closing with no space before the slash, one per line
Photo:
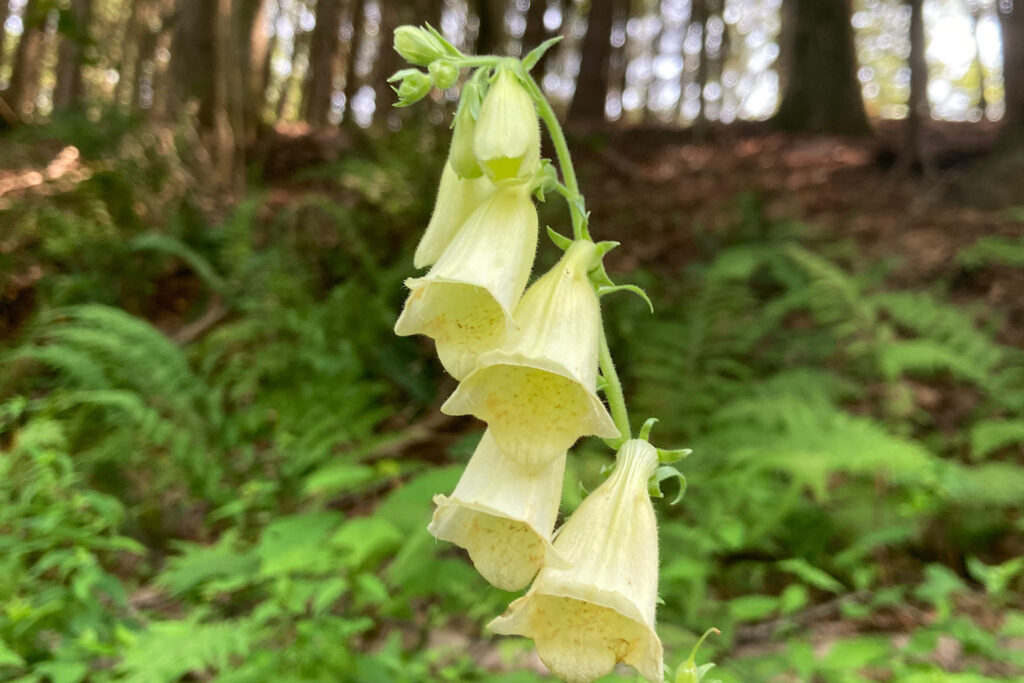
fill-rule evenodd
<path id="1" fill-rule="evenodd" d="M 792 37 L 787 87 L 774 123 L 813 133 L 869 132 L 847 0 L 783 0 Z"/>

